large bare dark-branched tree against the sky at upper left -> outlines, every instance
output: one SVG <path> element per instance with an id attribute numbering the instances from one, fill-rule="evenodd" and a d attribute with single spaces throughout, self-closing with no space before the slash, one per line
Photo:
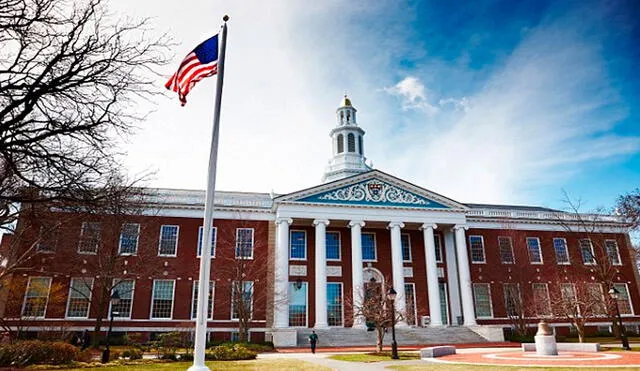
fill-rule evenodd
<path id="1" fill-rule="evenodd" d="M 145 116 L 132 103 L 161 91 L 167 37 L 149 31 L 103 0 L 0 0 L 0 225 L 18 203 L 102 184 L 114 140 Z"/>

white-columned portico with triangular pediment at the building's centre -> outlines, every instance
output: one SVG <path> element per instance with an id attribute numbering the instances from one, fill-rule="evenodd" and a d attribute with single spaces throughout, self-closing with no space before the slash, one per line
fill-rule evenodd
<path id="1" fill-rule="evenodd" d="M 407 313 L 406 317 L 413 316 L 410 323 L 407 320 L 399 323 L 400 327 L 420 325 L 421 321 L 415 316 L 424 316 L 427 307 L 430 326 L 442 326 L 443 315 L 447 313 L 462 313 L 464 325 L 475 324 L 464 205 L 374 170 L 281 196 L 274 200 L 274 207 L 277 215 L 275 287 L 280 296 L 274 301 L 275 328 L 290 327 L 288 285 L 302 281 L 313 284 L 307 293 L 310 298 L 308 327 L 364 328 L 366 320 L 354 318 L 351 308 L 362 303 L 366 283 L 363 270 L 367 267 L 379 269 L 399 293 L 396 310 Z M 293 231 L 297 231 L 296 236 L 304 235 L 309 246 L 313 245 L 307 247 L 313 259 L 307 254 L 304 260 L 291 256 Z M 436 236 L 436 232 L 440 234 Z M 327 257 L 327 241 L 335 240 L 333 236 L 328 240 L 328 233 L 339 236 L 342 251 L 339 261 Z M 448 233 L 454 235 L 451 241 L 445 237 Z M 453 246 L 447 246 L 451 243 Z M 418 247 L 421 247 L 419 253 Z M 453 268 L 444 263 L 444 251 L 447 255 L 455 254 L 457 264 Z M 454 282 L 459 287 L 448 291 L 449 295 L 459 292 L 460 300 L 447 303 L 447 313 L 443 314 L 440 282 L 445 276 L 457 277 L 449 280 L 448 285 Z M 336 316 L 331 307 L 335 303 L 327 300 L 328 284 L 340 285 L 341 297 L 333 299 L 342 305 L 342 323 L 327 320 Z M 407 291 L 409 289 L 413 291 Z M 405 292 L 413 297 L 406 297 Z M 456 303 L 461 307 L 453 308 Z M 407 304 L 413 307 L 408 308 Z M 446 322 L 455 324 L 456 319 L 447 318 Z"/>

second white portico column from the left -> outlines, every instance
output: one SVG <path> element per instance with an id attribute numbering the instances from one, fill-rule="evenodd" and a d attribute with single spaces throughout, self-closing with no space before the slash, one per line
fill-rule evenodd
<path id="1" fill-rule="evenodd" d="M 327 226 L 328 220 L 314 220 L 316 226 L 316 324 L 328 328 L 327 323 Z"/>

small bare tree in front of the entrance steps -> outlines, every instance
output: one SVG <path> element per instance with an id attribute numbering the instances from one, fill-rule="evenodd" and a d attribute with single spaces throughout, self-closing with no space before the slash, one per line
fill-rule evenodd
<path id="1" fill-rule="evenodd" d="M 405 313 L 394 310 L 393 303 L 387 299 L 386 294 L 393 287 L 392 282 L 390 277 L 385 277 L 384 283 L 367 282 L 362 290 L 360 300 L 354 303 L 350 298 L 345 299 L 345 306 L 351 308 L 353 316 L 363 317 L 367 326 L 375 329 L 376 352 L 378 353 L 383 350 L 384 335 L 387 329 L 392 326 L 392 322 L 398 323 L 405 318 Z M 400 300 L 404 299 L 401 297 Z"/>

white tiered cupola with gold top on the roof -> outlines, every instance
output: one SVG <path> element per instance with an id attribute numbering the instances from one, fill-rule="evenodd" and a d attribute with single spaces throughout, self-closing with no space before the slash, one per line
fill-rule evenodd
<path id="1" fill-rule="evenodd" d="M 336 110 L 337 126 L 329 133 L 333 157 L 322 177 L 324 183 L 371 170 L 364 157 L 364 130 L 358 126 L 356 112 L 345 95 Z"/>

